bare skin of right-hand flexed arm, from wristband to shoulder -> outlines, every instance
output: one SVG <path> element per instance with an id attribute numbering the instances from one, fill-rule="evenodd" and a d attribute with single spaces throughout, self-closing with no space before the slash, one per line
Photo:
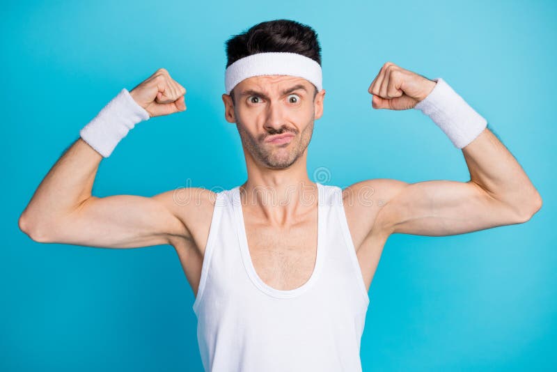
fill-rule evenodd
<path id="1" fill-rule="evenodd" d="M 386 235 L 469 233 L 520 224 L 540 210 L 540 194 L 520 164 L 489 129 L 462 151 L 471 175 L 466 183 L 376 179 L 356 183 L 347 189 L 354 194 L 363 187 L 374 191 L 372 207 L 360 207 L 360 213 L 368 217 L 373 215 L 375 223 L 369 228 Z"/>

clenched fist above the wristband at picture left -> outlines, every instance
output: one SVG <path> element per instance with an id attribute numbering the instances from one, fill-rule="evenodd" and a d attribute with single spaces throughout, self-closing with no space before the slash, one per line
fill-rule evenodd
<path id="1" fill-rule="evenodd" d="M 186 88 L 175 82 L 168 71 L 159 68 L 153 75 L 130 91 L 135 102 L 151 117 L 184 111 Z"/>

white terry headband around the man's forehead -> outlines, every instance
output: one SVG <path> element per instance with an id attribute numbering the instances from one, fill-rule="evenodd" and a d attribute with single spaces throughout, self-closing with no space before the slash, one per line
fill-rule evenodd
<path id="1" fill-rule="evenodd" d="M 229 65 L 224 72 L 226 94 L 242 80 L 260 75 L 290 75 L 302 77 L 321 91 L 321 66 L 313 59 L 290 52 L 251 54 Z"/>

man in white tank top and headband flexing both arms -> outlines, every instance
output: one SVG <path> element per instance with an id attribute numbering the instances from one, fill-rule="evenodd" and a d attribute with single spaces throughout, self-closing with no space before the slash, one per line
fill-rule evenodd
<path id="1" fill-rule="evenodd" d="M 19 218 L 38 242 L 175 247 L 196 296 L 207 371 L 361 371 L 368 290 L 389 235 L 519 224 L 541 208 L 483 117 L 443 79 L 393 63 L 370 84 L 372 107 L 430 116 L 462 149 L 471 179 L 372 179 L 345 189 L 313 183 L 307 148 L 325 95 L 315 31 L 262 22 L 230 38 L 226 52 L 222 99 L 242 140 L 244 184 L 150 198 L 91 195 L 102 157 L 136 123 L 186 109 L 185 88 L 160 69 L 81 130 Z"/>

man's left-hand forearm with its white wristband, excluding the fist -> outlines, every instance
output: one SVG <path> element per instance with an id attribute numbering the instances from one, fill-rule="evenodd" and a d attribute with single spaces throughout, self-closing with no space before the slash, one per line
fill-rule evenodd
<path id="1" fill-rule="evenodd" d="M 42 180 L 19 217 L 22 231 L 40 237 L 88 200 L 102 158 L 111 155 L 136 123 L 149 117 L 148 111 L 123 88 L 79 131 L 79 139 Z"/>

